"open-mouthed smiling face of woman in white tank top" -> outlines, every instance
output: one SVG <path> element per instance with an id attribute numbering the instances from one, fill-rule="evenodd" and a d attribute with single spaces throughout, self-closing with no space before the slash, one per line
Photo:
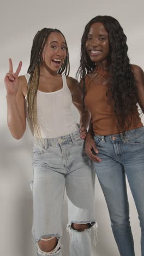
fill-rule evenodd
<path id="1" fill-rule="evenodd" d="M 43 61 L 51 71 L 58 72 L 65 57 L 67 45 L 61 33 L 51 32 L 43 50 Z M 42 64 L 43 65 L 43 64 Z"/>

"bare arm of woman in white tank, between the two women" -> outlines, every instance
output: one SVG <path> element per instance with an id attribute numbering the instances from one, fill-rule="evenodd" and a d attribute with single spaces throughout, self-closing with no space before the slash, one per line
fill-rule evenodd
<path id="1" fill-rule="evenodd" d="M 68 77 L 67 84 L 71 91 L 73 104 L 80 113 L 80 124 L 84 131 L 84 129 L 87 129 L 87 127 L 89 125 L 89 120 L 91 118 L 91 115 L 87 108 L 85 108 L 85 109 L 83 108 L 82 91 L 80 90 L 79 83 L 77 82 L 77 80 L 74 78 Z"/>

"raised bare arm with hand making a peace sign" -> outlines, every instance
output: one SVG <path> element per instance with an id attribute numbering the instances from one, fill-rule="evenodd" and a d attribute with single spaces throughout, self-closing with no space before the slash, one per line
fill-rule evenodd
<path id="1" fill-rule="evenodd" d="M 7 90 L 8 126 L 11 135 L 16 139 L 20 139 L 26 130 L 25 97 L 23 95 L 23 85 L 26 83 L 26 79 L 18 78 L 21 65 L 20 62 L 14 73 L 12 61 L 9 59 L 9 72 L 4 78 Z"/>

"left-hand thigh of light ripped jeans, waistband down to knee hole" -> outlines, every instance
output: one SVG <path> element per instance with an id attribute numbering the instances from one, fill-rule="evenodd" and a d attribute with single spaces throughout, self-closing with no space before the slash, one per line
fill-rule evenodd
<path id="1" fill-rule="evenodd" d="M 32 232 L 35 241 L 44 236 L 62 236 L 65 177 L 60 172 L 63 170 L 61 158 L 51 149 L 34 155 Z"/>

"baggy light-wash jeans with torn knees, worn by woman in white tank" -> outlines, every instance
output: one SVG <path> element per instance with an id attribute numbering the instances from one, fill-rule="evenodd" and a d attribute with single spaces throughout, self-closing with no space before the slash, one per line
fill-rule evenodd
<path id="1" fill-rule="evenodd" d="M 95 228 L 95 171 L 84 150 L 79 131 L 59 138 L 44 139 L 44 146 L 33 148 L 33 236 L 37 255 L 62 255 L 62 205 L 68 196 L 70 256 L 91 255 L 91 230 Z M 91 223 L 92 228 L 78 232 L 71 223 Z M 57 237 L 55 253 L 40 252 L 38 241 Z"/>

